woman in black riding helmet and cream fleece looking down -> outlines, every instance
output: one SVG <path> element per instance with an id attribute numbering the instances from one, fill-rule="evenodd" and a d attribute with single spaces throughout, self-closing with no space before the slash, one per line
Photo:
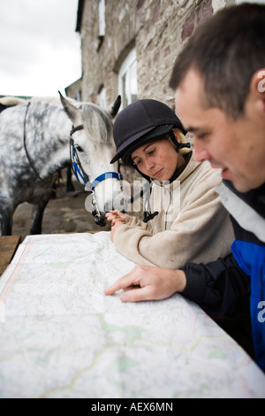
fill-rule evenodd
<path id="1" fill-rule="evenodd" d="M 117 153 L 152 184 L 148 223 L 113 211 L 110 238 L 135 263 L 178 268 L 187 261 L 208 262 L 231 252 L 229 216 L 216 194 L 220 172 L 193 160 L 186 131 L 170 108 L 143 99 L 117 116 Z"/>

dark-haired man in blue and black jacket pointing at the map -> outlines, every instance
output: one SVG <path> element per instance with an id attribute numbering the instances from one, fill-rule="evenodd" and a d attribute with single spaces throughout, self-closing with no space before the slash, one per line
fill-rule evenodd
<path id="1" fill-rule="evenodd" d="M 121 300 L 136 302 L 180 292 L 216 315 L 242 312 L 249 300 L 265 372 L 265 6 L 231 6 L 208 19 L 179 54 L 170 87 L 194 158 L 222 169 L 217 191 L 231 213 L 232 255 L 181 270 L 136 266 L 105 293 L 125 289 Z"/>

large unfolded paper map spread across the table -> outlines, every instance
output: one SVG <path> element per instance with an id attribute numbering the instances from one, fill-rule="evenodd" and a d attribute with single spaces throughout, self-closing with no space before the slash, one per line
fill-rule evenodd
<path id="1" fill-rule="evenodd" d="M 0 397 L 265 397 L 265 374 L 176 294 L 123 304 L 110 233 L 27 236 L 0 279 Z"/>

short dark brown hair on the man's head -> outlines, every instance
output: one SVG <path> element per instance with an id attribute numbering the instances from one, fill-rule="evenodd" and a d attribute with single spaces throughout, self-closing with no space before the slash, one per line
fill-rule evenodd
<path id="1" fill-rule="evenodd" d="M 250 81 L 265 67 L 265 5 L 228 7 L 199 26 L 175 61 L 170 88 L 190 69 L 203 82 L 203 104 L 236 119 L 244 114 Z"/>

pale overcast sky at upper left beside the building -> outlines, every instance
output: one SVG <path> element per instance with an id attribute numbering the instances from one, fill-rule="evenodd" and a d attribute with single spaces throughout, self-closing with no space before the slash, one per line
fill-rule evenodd
<path id="1" fill-rule="evenodd" d="M 81 76 L 78 0 L 0 0 L 0 96 L 58 96 Z"/>

